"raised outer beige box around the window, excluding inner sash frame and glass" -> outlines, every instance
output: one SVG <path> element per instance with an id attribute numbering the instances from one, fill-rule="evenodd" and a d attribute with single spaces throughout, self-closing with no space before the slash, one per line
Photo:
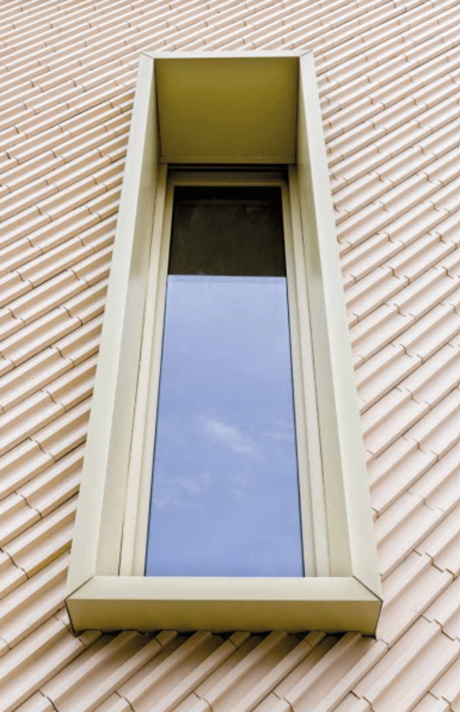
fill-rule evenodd
<path id="1" fill-rule="evenodd" d="M 211 70 L 211 88 L 204 85 L 207 71 L 203 72 L 203 68 Z M 268 80 L 258 87 L 258 93 L 254 92 L 254 98 L 252 91 L 247 92 L 241 104 L 244 112 L 236 114 L 233 125 L 228 115 L 219 114 L 225 105 L 219 104 L 214 95 L 219 86 L 216 78 L 222 75 L 226 93 L 234 90 L 240 99 L 239 80 L 243 76 L 246 80 L 253 70 L 259 76 L 263 72 L 264 77 L 272 72 L 278 95 L 273 94 L 274 84 Z M 224 585 L 223 580 L 209 577 L 160 580 L 133 575 L 132 569 L 129 573 L 130 558 L 126 554 L 120 571 L 122 540 L 126 538 L 123 523 L 125 520 L 129 529 L 134 516 L 131 510 L 125 515 L 125 503 L 131 491 L 128 470 L 135 467 L 133 437 L 142 419 L 139 415 L 135 422 L 135 412 L 142 410 L 139 369 L 148 265 L 160 244 L 158 230 L 166 205 L 167 156 L 162 152 L 162 126 L 168 120 L 170 96 L 182 100 L 180 94 L 174 97 L 178 78 L 179 84 L 182 79 L 187 80 L 187 86 L 192 82 L 197 87 L 196 92 L 185 93 L 184 112 L 192 112 L 195 120 L 197 115 L 211 120 L 215 130 L 209 154 L 201 153 L 199 162 L 222 163 L 222 147 L 229 134 L 232 145 L 239 147 L 236 135 L 241 135 L 252 100 L 253 115 L 260 109 L 261 99 L 266 101 L 264 110 L 267 106 L 269 110 L 271 101 L 273 110 L 282 102 L 291 102 L 286 124 L 276 127 L 281 142 L 276 142 L 268 124 L 268 129 L 265 125 L 261 130 L 261 148 L 257 122 L 248 120 L 241 152 L 225 156 L 225 162 L 288 164 L 292 230 L 300 236 L 304 252 L 296 257 L 296 280 L 298 266 L 302 265 L 300 280 L 303 273 L 308 294 L 308 300 L 301 300 L 299 305 L 299 323 L 306 325 L 310 319 L 310 329 L 303 328 L 302 338 L 308 342 L 311 334 L 318 408 L 320 446 L 315 451 L 313 434 L 308 432 L 308 459 L 310 470 L 316 459 L 313 469 L 320 468 L 323 473 L 330 575 L 284 580 L 226 578 Z M 172 87 L 169 95 L 164 91 L 165 85 L 167 89 Z M 291 136 L 293 116 L 296 127 Z M 183 156 L 174 155 L 174 159 L 187 164 L 197 158 L 196 143 L 192 143 L 197 132 L 194 135 L 193 127 L 190 124 L 188 132 L 185 124 L 180 137 L 180 145 L 184 145 L 184 137 L 187 139 L 190 133 L 190 151 Z M 174 138 L 174 132 L 169 135 Z M 247 152 L 251 136 L 258 141 L 256 158 Z M 285 147 L 284 152 L 278 151 L 279 146 Z M 202 145 L 200 150 L 203 151 Z M 299 244 L 298 239 L 294 244 Z M 303 349 L 302 359 L 305 352 Z M 304 370 L 304 387 L 307 376 Z M 308 402 L 306 394 L 304 402 Z M 315 419 L 310 418 L 311 422 L 314 429 Z M 66 605 L 75 631 L 323 629 L 375 634 L 382 605 L 380 577 L 311 52 L 147 52 L 141 57 Z"/>

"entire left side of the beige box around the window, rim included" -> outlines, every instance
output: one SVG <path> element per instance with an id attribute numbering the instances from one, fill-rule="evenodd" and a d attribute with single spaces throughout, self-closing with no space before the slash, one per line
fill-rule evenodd
<path id="1" fill-rule="evenodd" d="M 157 183 L 153 63 L 141 58 L 67 590 L 117 573 Z M 130 420 L 131 418 L 131 420 Z M 109 477 L 110 476 L 110 477 Z M 97 568 L 99 565 L 99 569 Z"/>

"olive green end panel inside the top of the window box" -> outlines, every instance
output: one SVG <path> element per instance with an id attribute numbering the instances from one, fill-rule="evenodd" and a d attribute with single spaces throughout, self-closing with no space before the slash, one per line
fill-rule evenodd
<path id="1" fill-rule="evenodd" d="M 298 57 L 159 58 L 155 77 L 162 162 L 296 161 Z"/>

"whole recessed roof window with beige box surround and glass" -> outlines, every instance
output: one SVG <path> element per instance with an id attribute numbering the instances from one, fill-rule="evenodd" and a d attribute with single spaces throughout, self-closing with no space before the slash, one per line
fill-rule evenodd
<path id="1" fill-rule="evenodd" d="M 207 253 L 211 236 L 193 236 L 190 225 L 214 218 L 226 240 L 230 219 L 248 238 Z M 184 234 L 195 241 L 188 252 L 174 247 Z M 207 373 L 219 358 L 234 363 L 236 406 L 219 377 L 213 385 L 193 362 L 200 343 Z M 239 422 L 246 360 L 258 395 Z M 286 445 L 268 446 L 277 410 Z M 224 462 L 222 447 L 233 459 Z M 206 526 L 189 514 L 179 520 L 180 503 L 176 514 L 155 515 L 177 481 L 198 502 L 211 476 L 204 464 L 214 476 L 219 458 L 221 482 L 201 505 Z M 236 506 L 235 468 L 253 477 L 245 492 L 263 515 L 251 520 L 251 506 Z M 226 529 L 219 497 L 232 517 Z M 217 534 L 226 536 L 222 560 L 213 528 L 217 547 Z M 232 528 L 247 540 L 241 557 Z M 66 604 L 75 630 L 375 633 L 380 578 L 312 53 L 141 57 Z"/>

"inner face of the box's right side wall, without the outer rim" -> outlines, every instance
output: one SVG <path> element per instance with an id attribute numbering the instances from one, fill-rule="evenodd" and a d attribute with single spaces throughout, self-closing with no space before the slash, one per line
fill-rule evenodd
<path id="1" fill-rule="evenodd" d="M 300 61 L 302 60 L 303 58 Z M 340 459 L 338 417 L 335 407 L 336 396 L 331 353 L 332 335 L 328 318 L 328 285 L 325 282 L 323 256 L 333 262 L 334 278 L 338 280 L 339 290 L 341 289 L 340 266 L 338 265 L 332 197 L 313 57 L 305 56 L 301 67 L 297 170 L 315 379 L 318 392 L 330 572 L 333 576 L 350 576 L 352 575 L 352 558 L 345 508 L 342 461 Z M 345 308 L 344 299 L 342 291 L 338 301 L 340 310 Z M 338 357 L 342 357 L 341 352 Z"/>

